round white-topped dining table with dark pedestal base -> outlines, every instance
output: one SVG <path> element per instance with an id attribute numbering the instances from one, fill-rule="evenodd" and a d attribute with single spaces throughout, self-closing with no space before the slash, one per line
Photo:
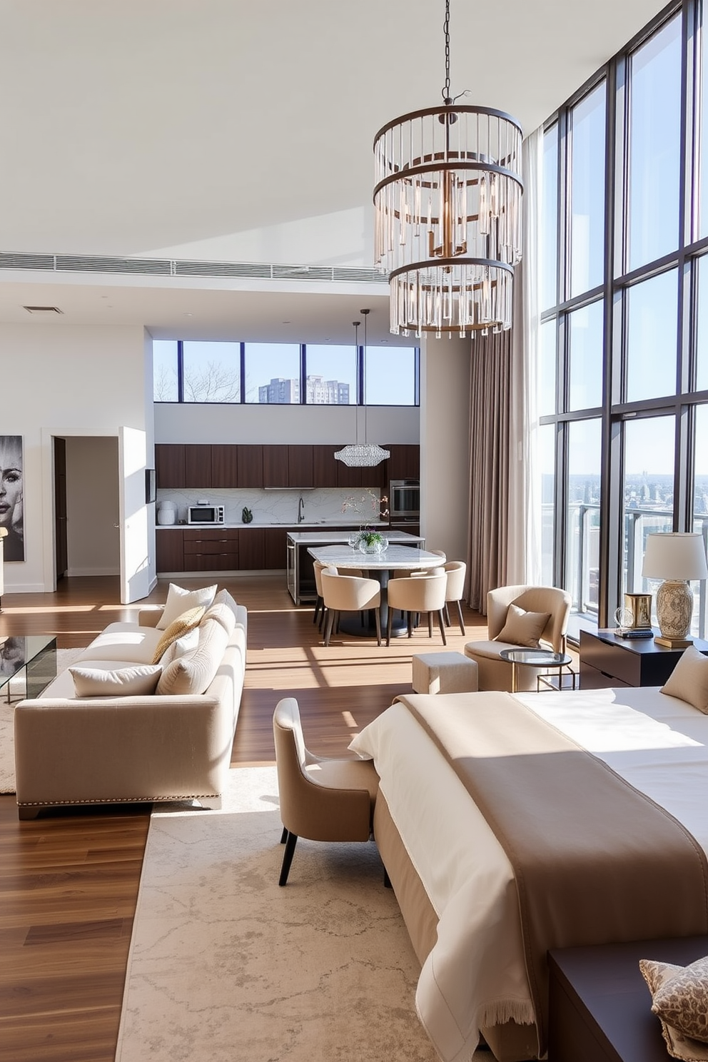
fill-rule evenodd
<path id="1" fill-rule="evenodd" d="M 427 549 L 415 546 L 388 546 L 380 553 L 362 553 L 358 547 L 311 546 L 308 553 L 315 561 L 330 564 L 333 568 L 346 573 L 347 568 L 358 568 L 367 579 L 377 579 L 381 583 L 381 630 L 385 631 L 388 621 L 388 601 L 386 586 L 392 571 L 420 571 L 426 568 L 441 568 L 445 564 L 445 554 L 431 553 Z M 364 626 L 359 622 L 340 620 L 340 628 L 347 634 L 370 636 L 374 623 L 370 617 Z M 408 627 L 402 617 L 394 620 L 391 633 L 396 637 L 408 633 Z"/>

